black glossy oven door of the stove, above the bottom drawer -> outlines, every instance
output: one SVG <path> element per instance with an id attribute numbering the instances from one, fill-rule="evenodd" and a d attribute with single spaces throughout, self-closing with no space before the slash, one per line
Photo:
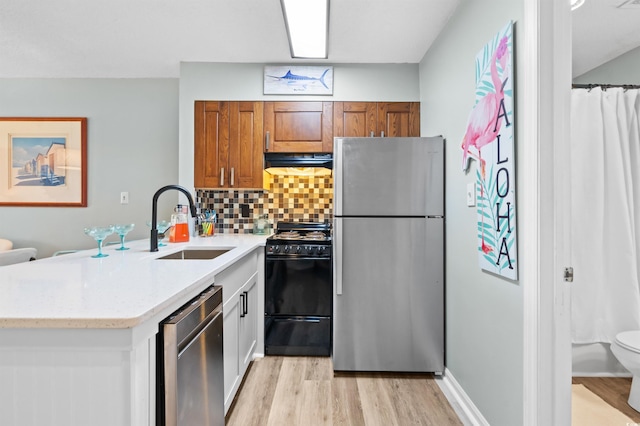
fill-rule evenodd
<path id="1" fill-rule="evenodd" d="M 265 314 L 331 316 L 330 258 L 267 257 Z"/>

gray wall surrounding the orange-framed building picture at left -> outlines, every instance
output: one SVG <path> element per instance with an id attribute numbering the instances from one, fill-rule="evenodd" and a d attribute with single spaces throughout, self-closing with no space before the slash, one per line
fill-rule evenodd
<path id="1" fill-rule="evenodd" d="M 148 238 L 153 193 L 178 179 L 177 79 L 0 79 L 0 99 L 4 117 L 88 119 L 88 207 L 0 206 L 0 238 L 38 257 L 96 247 L 85 226 L 132 222 L 130 238 Z M 163 218 L 177 200 L 160 198 Z"/>

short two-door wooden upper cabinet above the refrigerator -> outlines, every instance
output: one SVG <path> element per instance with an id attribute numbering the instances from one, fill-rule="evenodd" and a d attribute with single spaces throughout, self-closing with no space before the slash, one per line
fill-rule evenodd
<path id="1" fill-rule="evenodd" d="M 420 136 L 419 102 L 335 102 L 333 111 L 334 136 Z"/>

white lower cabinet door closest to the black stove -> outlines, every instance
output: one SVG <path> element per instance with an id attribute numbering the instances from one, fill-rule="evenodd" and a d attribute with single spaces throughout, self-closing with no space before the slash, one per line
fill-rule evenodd
<path id="1" fill-rule="evenodd" d="M 258 339 L 258 273 L 242 288 L 244 303 L 244 315 L 240 319 L 240 374 L 244 371 L 253 360 L 253 353 L 256 349 Z"/>

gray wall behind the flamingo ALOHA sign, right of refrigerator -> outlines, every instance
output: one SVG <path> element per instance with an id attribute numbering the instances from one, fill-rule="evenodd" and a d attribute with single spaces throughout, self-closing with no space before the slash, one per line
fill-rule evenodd
<path id="1" fill-rule="evenodd" d="M 467 207 L 467 184 L 477 162 L 461 169 L 462 138 L 475 101 L 475 57 L 509 20 L 515 22 L 514 56 L 523 52 L 522 1 L 463 0 L 420 63 L 421 130 L 447 139 L 446 160 L 446 365 L 491 425 L 522 424 L 523 292 L 519 282 L 482 272 L 478 266 L 476 209 Z M 516 62 L 517 122 L 524 92 Z M 516 153 L 522 152 L 516 146 Z M 518 156 L 517 165 L 523 159 Z M 522 187 L 518 179 L 518 187 Z M 521 215 L 519 216 L 521 217 Z M 522 233 L 520 233 L 522 235 Z M 520 239 L 519 245 L 522 247 Z"/>

